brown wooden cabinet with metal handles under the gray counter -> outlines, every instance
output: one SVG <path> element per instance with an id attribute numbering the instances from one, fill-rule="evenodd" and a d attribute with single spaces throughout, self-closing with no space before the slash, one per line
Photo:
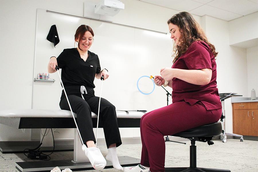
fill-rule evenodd
<path id="1" fill-rule="evenodd" d="M 258 102 L 232 103 L 233 133 L 258 136 Z"/>

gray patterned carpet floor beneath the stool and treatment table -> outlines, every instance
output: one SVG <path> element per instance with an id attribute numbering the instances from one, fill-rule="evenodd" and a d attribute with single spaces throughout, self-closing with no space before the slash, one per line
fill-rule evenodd
<path id="1" fill-rule="evenodd" d="M 185 144 L 166 142 L 165 167 L 189 167 L 190 141 Z M 214 140 L 213 145 L 196 142 L 197 167 L 230 169 L 232 172 L 258 172 L 258 141 L 228 139 L 226 143 Z M 99 146 L 105 156 L 106 146 Z M 141 158 L 141 144 L 122 144 L 117 149 L 118 156 Z M 54 152 L 51 160 L 73 159 L 73 151 Z M 2 154 L 0 152 L 0 171 L 17 172 L 15 162 L 32 161 L 23 153 Z M 62 169 L 61 169 L 62 170 Z M 119 172 L 116 169 L 103 169 L 101 172 Z M 74 171 L 76 172 L 76 171 Z M 78 171 L 79 172 L 79 171 Z M 80 171 L 86 172 L 86 171 Z M 87 172 L 97 172 L 89 170 Z"/>

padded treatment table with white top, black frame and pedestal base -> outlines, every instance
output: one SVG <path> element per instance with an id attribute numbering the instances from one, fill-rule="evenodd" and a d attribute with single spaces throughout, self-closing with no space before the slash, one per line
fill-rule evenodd
<path id="1" fill-rule="evenodd" d="M 116 111 L 119 128 L 140 127 L 140 118 L 144 112 L 135 111 Z M 74 114 L 75 118 L 77 114 Z M 93 128 L 97 127 L 97 115 L 92 113 Z M 56 161 L 32 161 L 17 162 L 16 169 L 21 172 L 27 171 L 50 171 L 58 166 L 61 169 L 70 168 L 73 171 L 93 170 L 89 162 L 85 162 L 86 156 L 81 149 L 81 141 L 77 134 L 77 129 L 71 114 L 68 110 L 1 110 L 0 124 L 5 124 L 14 128 L 75 128 L 74 139 L 74 159 L 56 160 Z M 102 128 L 102 122 L 99 121 L 99 128 Z M 121 166 L 134 166 L 140 163 L 140 159 L 128 156 L 118 157 Z M 83 163 L 82 163 L 83 162 Z M 107 161 L 105 168 L 113 168 Z"/>

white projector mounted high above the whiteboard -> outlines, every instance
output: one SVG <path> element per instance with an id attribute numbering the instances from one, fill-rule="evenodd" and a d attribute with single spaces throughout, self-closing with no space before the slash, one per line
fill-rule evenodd
<path id="1" fill-rule="evenodd" d="M 101 2 L 95 5 L 95 13 L 101 15 L 116 15 L 120 9 L 124 9 L 124 3 L 120 0 L 101 0 Z"/>

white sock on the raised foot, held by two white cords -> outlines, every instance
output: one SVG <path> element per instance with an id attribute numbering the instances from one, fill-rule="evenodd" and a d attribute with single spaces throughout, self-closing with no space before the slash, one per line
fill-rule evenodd
<path id="1" fill-rule="evenodd" d="M 82 150 L 85 152 L 86 157 L 88 157 L 94 169 L 102 170 L 103 168 L 105 168 L 107 161 L 103 157 L 99 148 L 96 148 L 96 147 L 87 148 L 87 146 L 83 144 Z"/>

